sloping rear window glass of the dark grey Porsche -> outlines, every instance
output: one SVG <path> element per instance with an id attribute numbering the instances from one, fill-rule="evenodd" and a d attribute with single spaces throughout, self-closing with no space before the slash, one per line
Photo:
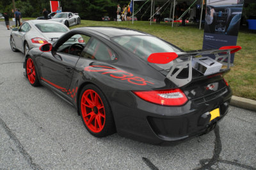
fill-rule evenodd
<path id="1" fill-rule="evenodd" d="M 118 36 L 113 38 L 113 41 L 144 60 L 152 53 L 180 52 L 175 46 L 154 36 Z"/>

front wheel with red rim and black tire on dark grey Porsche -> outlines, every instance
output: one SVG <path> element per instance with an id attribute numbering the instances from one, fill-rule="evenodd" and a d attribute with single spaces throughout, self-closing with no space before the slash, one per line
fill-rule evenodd
<path id="1" fill-rule="evenodd" d="M 34 60 L 31 57 L 26 60 L 26 76 L 32 86 L 37 87 L 40 85 Z"/>

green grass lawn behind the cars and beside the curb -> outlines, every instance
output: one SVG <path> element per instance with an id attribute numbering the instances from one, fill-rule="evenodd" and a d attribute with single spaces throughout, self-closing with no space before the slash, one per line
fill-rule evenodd
<path id="1" fill-rule="evenodd" d="M 31 18 L 23 18 L 29 20 Z M 81 20 L 81 25 L 70 27 L 86 26 L 110 26 L 110 27 L 128 27 L 159 38 L 165 39 L 179 46 L 185 51 L 202 49 L 204 30 L 198 29 L 198 26 L 189 25 L 188 27 L 179 27 L 176 24 L 152 24 L 149 22 L 98 22 L 90 20 Z M 252 31 L 239 31 L 237 45 L 242 46 L 242 50 L 236 53 L 234 67 L 225 75 L 225 79 L 233 90 L 235 96 L 246 97 L 256 100 L 256 34 Z"/>

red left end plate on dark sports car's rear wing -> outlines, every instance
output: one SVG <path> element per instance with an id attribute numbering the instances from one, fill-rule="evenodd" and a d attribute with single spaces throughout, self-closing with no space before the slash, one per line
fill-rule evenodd
<path id="1" fill-rule="evenodd" d="M 152 53 L 148 56 L 148 62 L 154 64 L 167 64 L 178 57 L 175 52 Z"/>

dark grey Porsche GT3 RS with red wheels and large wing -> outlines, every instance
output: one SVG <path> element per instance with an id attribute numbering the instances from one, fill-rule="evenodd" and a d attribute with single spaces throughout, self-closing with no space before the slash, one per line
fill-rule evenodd
<path id="1" fill-rule="evenodd" d="M 31 85 L 72 104 L 93 136 L 161 144 L 209 132 L 227 114 L 223 75 L 239 49 L 184 52 L 145 32 L 83 27 L 29 50 L 24 68 Z"/>

